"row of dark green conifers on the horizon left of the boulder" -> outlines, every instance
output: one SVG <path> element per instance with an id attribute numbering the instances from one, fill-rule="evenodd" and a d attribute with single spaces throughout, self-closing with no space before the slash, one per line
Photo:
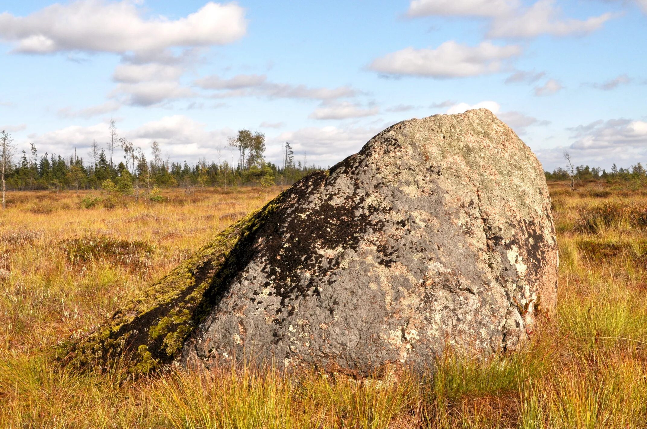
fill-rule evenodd
<path id="1" fill-rule="evenodd" d="M 197 163 L 169 162 L 162 158 L 157 141 L 151 143 L 151 158 L 147 159 L 140 147 L 135 147 L 126 138 L 117 138 L 114 122 L 111 121 L 110 138 L 104 149 L 93 141 L 88 158 L 74 154 L 40 154 L 33 143 L 15 153 L 10 134 L 2 132 L 0 143 L 6 151 L 0 151 L 3 179 L 6 189 L 105 189 L 113 185 L 124 193 L 154 187 L 240 186 L 291 184 L 319 168 L 306 165 L 305 158 L 294 160 L 290 143 L 283 145 L 280 165 L 265 160 L 265 136 L 241 130 L 230 138 L 229 145 L 236 150 L 236 165 L 227 161 Z M 124 159 L 113 162 L 115 149 L 122 149 Z M 107 150 L 106 150 L 107 149 Z"/>

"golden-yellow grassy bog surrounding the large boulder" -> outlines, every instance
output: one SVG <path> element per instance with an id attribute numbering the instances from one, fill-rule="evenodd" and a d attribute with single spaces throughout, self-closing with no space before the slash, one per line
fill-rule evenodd
<path id="1" fill-rule="evenodd" d="M 398 383 L 271 368 L 120 382 L 50 358 L 279 189 L 164 191 L 83 209 L 11 193 L 0 214 L 0 428 L 647 428 L 647 188 L 551 183 L 558 313 L 520 353 L 448 355 Z"/>

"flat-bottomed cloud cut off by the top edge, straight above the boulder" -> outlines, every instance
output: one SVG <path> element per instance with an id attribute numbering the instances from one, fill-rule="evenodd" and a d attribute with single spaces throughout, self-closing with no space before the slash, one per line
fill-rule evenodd
<path id="1" fill-rule="evenodd" d="M 481 16 L 511 13 L 518 0 L 411 0 L 407 16 Z"/>

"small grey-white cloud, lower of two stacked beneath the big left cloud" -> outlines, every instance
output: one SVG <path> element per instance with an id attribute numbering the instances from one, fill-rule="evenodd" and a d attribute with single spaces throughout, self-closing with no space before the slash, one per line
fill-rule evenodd
<path id="1" fill-rule="evenodd" d="M 109 94 L 123 104 L 147 107 L 174 99 L 191 98 L 195 92 L 177 82 L 120 83 Z"/>

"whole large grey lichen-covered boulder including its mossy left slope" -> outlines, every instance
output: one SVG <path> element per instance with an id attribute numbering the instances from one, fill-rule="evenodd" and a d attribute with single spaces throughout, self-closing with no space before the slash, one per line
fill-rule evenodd
<path id="1" fill-rule="evenodd" d="M 557 263 L 529 147 L 485 109 L 413 119 L 221 233 L 70 357 L 422 369 L 448 347 L 518 348 L 554 311 Z"/>

